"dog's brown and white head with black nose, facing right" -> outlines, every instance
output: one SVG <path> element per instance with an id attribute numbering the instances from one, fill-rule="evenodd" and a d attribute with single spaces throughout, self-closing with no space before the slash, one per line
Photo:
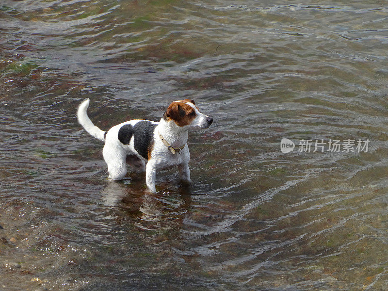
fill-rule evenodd
<path id="1" fill-rule="evenodd" d="M 213 118 L 199 112 L 194 100 L 184 99 L 173 101 L 163 114 L 166 122 L 174 122 L 181 128 L 207 129 Z"/>

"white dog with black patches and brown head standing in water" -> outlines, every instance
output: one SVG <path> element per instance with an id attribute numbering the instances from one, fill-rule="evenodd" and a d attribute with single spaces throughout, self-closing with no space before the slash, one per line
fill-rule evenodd
<path id="1" fill-rule="evenodd" d="M 105 142 L 102 154 L 108 164 L 109 178 L 123 179 L 128 162 L 134 171 L 146 171 L 147 187 L 153 193 L 157 170 L 178 166 L 180 178 L 191 182 L 187 132 L 207 129 L 213 122 L 213 118 L 198 111 L 193 100 L 173 101 L 160 122 L 133 119 L 108 131 L 92 123 L 86 113 L 88 106 L 89 99 L 85 99 L 78 108 L 78 121 L 88 133 Z"/>

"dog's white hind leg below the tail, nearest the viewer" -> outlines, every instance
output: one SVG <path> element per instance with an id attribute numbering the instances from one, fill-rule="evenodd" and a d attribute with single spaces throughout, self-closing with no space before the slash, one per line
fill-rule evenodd
<path id="1" fill-rule="evenodd" d="M 124 149 L 106 143 L 102 155 L 108 165 L 109 178 L 122 180 L 127 175 L 127 164 L 125 162 L 127 153 Z"/>

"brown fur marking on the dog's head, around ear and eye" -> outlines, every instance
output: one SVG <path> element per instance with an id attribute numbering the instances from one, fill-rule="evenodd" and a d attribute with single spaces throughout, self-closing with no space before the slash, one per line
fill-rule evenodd
<path id="1" fill-rule="evenodd" d="M 166 112 L 163 114 L 165 121 L 174 121 L 180 127 L 189 125 L 196 116 L 195 109 L 187 104 L 188 102 L 194 104 L 194 100 L 184 99 L 174 101 L 168 106 Z"/>

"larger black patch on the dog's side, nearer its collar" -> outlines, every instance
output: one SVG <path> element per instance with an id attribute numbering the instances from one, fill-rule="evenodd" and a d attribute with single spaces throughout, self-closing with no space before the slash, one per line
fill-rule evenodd
<path id="1" fill-rule="evenodd" d="M 154 144 L 154 129 L 157 124 L 142 120 L 133 126 L 133 146 L 136 151 L 148 160 L 148 149 Z"/>

